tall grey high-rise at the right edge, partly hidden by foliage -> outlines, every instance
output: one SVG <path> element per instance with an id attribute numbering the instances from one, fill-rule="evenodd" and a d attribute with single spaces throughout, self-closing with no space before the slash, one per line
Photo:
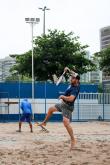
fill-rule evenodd
<path id="1" fill-rule="evenodd" d="M 110 26 L 100 29 L 100 50 L 110 47 Z M 102 80 L 110 80 L 110 76 L 102 71 Z"/>

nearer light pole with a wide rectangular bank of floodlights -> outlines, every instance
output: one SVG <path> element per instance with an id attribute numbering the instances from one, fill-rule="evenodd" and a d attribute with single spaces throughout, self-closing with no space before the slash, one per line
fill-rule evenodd
<path id="1" fill-rule="evenodd" d="M 40 18 L 25 18 L 26 23 L 31 24 L 32 30 L 32 102 L 34 102 L 34 53 L 33 53 L 33 27 L 40 22 Z"/>

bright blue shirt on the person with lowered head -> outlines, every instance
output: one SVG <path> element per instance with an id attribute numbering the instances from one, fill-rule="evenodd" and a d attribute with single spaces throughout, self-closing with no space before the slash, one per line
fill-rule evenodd
<path id="1" fill-rule="evenodd" d="M 24 99 L 21 102 L 20 108 L 22 109 L 23 114 L 26 114 L 26 113 L 32 114 L 31 103 L 29 103 L 28 100 Z"/>

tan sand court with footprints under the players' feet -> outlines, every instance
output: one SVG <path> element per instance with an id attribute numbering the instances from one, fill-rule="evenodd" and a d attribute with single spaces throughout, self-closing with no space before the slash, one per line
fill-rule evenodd
<path id="1" fill-rule="evenodd" d="M 28 124 L 16 132 L 18 123 L 0 123 L 0 165 L 109 165 L 110 123 L 72 123 L 77 144 L 70 140 L 63 123 L 48 123 L 49 133 Z"/>

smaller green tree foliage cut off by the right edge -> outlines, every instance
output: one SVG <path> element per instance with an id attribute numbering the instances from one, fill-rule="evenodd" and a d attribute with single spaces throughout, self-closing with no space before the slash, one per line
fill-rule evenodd
<path id="1" fill-rule="evenodd" d="M 110 75 L 110 47 L 95 53 L 94 59 L 98 61 L 100 70 Z"/>

